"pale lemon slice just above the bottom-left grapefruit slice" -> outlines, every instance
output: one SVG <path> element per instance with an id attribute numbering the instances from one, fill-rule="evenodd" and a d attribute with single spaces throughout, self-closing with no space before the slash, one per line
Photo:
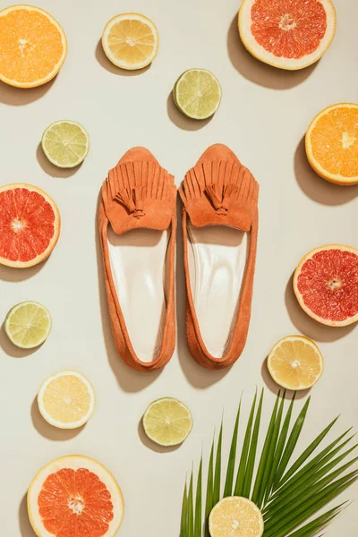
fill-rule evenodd
<path id="1" fill-rule="evenodd" d="M 42 384 L 38 409 L 43 418 L 59 429 L 76 429 L 89 421 L 96 405 L 95 392 L 77 371 L 60 371 Z"/>

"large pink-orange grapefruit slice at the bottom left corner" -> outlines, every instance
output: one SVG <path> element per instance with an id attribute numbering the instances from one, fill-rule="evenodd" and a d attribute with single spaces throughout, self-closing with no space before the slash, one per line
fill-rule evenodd
<path id="1" fill-rule="evenodd" d="M 38 537 L 115 537 L 124 501 L 107 468 L 87 456 L 64 456 L 31 482 L 28 512 Z"/>

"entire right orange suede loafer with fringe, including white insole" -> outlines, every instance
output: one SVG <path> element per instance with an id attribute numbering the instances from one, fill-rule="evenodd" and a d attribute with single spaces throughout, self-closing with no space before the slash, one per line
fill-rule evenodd
<path id="1" fill-rule="evenodd" d="M 259 185 L 217 144 L 185 175 L 179 193 L 188 345 L 201 365 L 228 367 L 243 352 L 251 317 Z"/>

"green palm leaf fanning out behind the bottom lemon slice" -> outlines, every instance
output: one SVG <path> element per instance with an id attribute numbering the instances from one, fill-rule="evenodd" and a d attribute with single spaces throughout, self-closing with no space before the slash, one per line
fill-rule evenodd
<path id="1" fill-rule="evenodd" d="M 189 485 L 186 485 L 184 489 L 181 537 L 201 537 L 203 527 L 205 536 L 209 537 L 208 519 L 211 509 L 219 499 L 231 496 L 233 488 L 235 496 L 251 497 L 251 500 L 263 509 L 264 537 L 311 537 L 325 528 L 342 511 L 345 504 L 340 504 L 311 518 L 358 479 L 358 471 L 346 473 L 358 461 L 358 456 L 349 458 L 358 447 L 358 445 L 348 446 L 354 436 L 347 438 L 349 430 L 346 430 L 318 452 L 321 442 L 336 425 L 336 418 L 313 439 L 301 455 L 295 456 L 294 463 L 291 464 L 291 458 L 294 457 L 297 442 L 303 430 L 310 398 L 303 405 L 291 429 L 294 397 L 285 412 L 285 393 L 283 396 L 278 393 L 267 430 L 262 431 L 263 396 L 262 390 L 258 402 L 256 393 L 251 404 L 235 484 L 235 463 L 239 455 L 241 402 L 231 435 L 226 476 L 222 475 L 223 422 L 217 441 L 214 439 L 211 446 L 205 481 L 202 475 L 201 456 L 196 494 L 194 495 L 193 491 L 193 472 Z M 259 448 L 260 436 L 264 439 L 261 448 Z M 343 451 L 345 446 L 347 449 Z M 347 460 L 344 462 L 344 459 Z M 257 460 L 259 464 L 255 470 Z M 225 482 L 224 490 L 221 489 L 222 481 Z M 206 482 L 205 512 L 202 510 L 203 482 Z"/>

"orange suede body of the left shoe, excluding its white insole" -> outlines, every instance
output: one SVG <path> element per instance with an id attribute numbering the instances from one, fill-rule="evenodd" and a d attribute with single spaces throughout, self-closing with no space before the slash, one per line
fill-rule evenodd
<path id="1" fill-rule="evenodd" d="M 125 153 L 113 168 L 102 187 L 98 210 L 98 231 L 102 247 L 107 303 L 115 346 L 124 362 L 136 371 L 162 369 L 175 350 L 175 237 L 176 187 L 173 175 L 159 166 L 145 148 L 133 148 Z M 107 229 L 123 234 L 131 229 L 149 228 L 164 231 L 170 228 L 166 252 L 166 319 L 158 355 L 152 362 L 143 362 L 135 353 L 123 311 L 115 291 Z M 140 262 L 140 258 L 139 258 Z M 150 315 L 150 311 L 148 312 Z"/>

